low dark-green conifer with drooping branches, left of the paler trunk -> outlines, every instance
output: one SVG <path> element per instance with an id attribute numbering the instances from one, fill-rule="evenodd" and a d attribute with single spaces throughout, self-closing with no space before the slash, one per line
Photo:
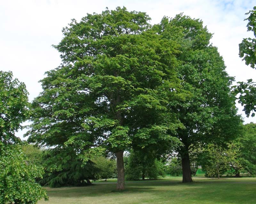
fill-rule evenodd
<path id="1" fill-rule="evenodd" d="M 83 186 L 90 184 L 89 179 L 98 179 L 99 169 L 92 161 L 83 163 L 70 149 L 47 149 L 43 154 L 45 174 L 39 180 L 41 185 L 50 187 Z"/>

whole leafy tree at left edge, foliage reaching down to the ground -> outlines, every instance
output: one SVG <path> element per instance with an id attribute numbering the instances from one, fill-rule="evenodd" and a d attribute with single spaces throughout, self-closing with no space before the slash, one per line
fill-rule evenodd
<path id="1" fill-rule="evenodd" d="M 47 194 L 35 182 L 43 169 L 27 162 L 21 141 L 14 133 L 29 115 L 24 83 L 12 79 L 12 72 L 0 71 L 0 203 L 32 204 Z"/>

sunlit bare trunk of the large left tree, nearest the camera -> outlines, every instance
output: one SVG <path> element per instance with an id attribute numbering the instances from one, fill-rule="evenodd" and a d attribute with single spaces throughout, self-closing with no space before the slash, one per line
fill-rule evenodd
<path id="1" fill-rule="evenodd" d="M 124 151 L 117 151 L 116 162 L 117 162 L 117 184 L 116 190 L 124 190 Z"/>

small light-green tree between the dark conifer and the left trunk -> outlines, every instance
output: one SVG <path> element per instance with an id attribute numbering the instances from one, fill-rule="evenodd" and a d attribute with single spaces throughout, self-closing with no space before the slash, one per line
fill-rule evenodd
<path id="1" fill-rule="evenodd" d="M 111 160 L 105 157 L 95 157 L 92 159 L 92 162 L 95 163 L 95 166 L 99 169 L 99 176 L 101 179 L 116 178 L 116 161 Z"/>

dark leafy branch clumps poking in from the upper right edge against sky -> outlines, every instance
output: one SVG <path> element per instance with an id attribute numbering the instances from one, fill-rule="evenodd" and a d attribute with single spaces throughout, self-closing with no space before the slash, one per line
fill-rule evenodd
<path id="1" fill-rule="evenodd" d="M 239 56 L 243 58 L 246 65 L 250 65 L 255 69 L 256 64 L 256 6 L 253 7 L 253 10 L 245 13 L 246 15 L 250 14 L 248 18 L 247 31 L 252 31 L 254 38 L 244 38 L 242 43 L 239 44 Z M 237 86 L 233 86 L 234 98 L 238 99 L 238 102 L 244 106 L 244 112 L 247 117 L 255 116 L 256 112 L 256 83 L 252 79 L 248 79 L 247 82 L 238 82 Z M 236 98 L 236 95 L 239 95 Z"/>

